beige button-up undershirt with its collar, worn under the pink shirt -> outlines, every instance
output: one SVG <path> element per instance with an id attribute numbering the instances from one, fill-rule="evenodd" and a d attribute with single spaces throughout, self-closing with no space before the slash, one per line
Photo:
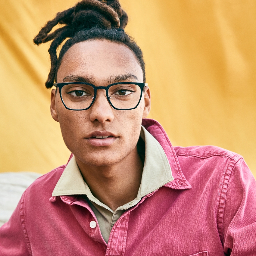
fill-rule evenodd
<path id="1" fill-rule="evenodd" d="M 106 243 L 108 243 L 112 227 L 125 210 L 136 205 L 143 196 L 173 180 L 170 164 L 159 142 L 143 126 L 140 137 L 145 142 L 145 161 L 141 185 L 138 195 L 133 201 L 118 207 L 115 211 L 100 202 L 92 195 L 91 190 L 83 180 L 74 156 L 68 162 L 52 192 L 52 196 L 85 195 L 85 199 L 97 218 L 101 235 Z"/>

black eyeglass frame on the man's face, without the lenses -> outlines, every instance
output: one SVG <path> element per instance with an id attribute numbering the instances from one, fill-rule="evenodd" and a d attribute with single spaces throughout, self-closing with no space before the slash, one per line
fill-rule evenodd
<path id="1" fill-rule="evenodd" d="M 92 86 L 92 88 L 94 89 L 94 96 L 93 96 L 93 99 L 92 99 L 92 103 L 89 105 L 88 108 L 73 109 L 73 108 L 68 108 L 68 107 L 65 105 L 65 103 L 64 103 L 64 101 L 63 101 L 63 99 L 62 99 L 61 89 L 62 89 L 63 86 L 68 85 L 68 84 L 86 84 L 86 85 Z M 108 96 L 108 89 L 109 89 L 111 86 L 114 86 L 114 85 L 117 85 L 117 84 L 135 84 L 135 85 L 138 85 L 138 86 L 140 87 L 140 98 L 139 98 L 139 102 L 138 102 L 138 104 L 136 105 L 136 107 L 123 109 L 123 108 L 116 108 L 116 107 L 113 106 L 113 104 L 111 103 L 111 101 L 110 101 L 110 99 L 109 99 L 109 96 Z M 107 96 L 107 99 L 108 99 L 108 103 L 111 105 L 112 108 L 117 109 L 117 110 L 131 110 L 131 109 L 135 109 L 135 108 L 138 107 L 138 105 L 139 105 L 139 103 L 140 103 L 140 101 L 141 101 L 141 98 L 142 98 L 143 87 L 148 86 L 148 84 L 147 84 L 147 83 L 135 83 L 135 82 L 119 82 L 119 83 L 111 83 L 111 84 L 109 84 L 108 86 L 95 86 L 95 85 L 92 84 L 92 83 L 70 82 L 70 83 L 55 83 L 54 86 L 56 87 L 56 89 L 57 89 L 57 87 L 59 88 L 59 93 L 60 93 L 61 101 L 62 101 L 64 107 L 67 108 L 67 109 L 69 109 L 69 110 L 80 111 L 80 110 L 87 110 L 87 109 L 89 109 L 89 108 L 92 106 L 93 102 L 95 101 L 96 96 L 97 96 L 97 90 L 99 90 L 99 89 L 105 89 L 105 91 L 106 91 L 106 96 Z"/>

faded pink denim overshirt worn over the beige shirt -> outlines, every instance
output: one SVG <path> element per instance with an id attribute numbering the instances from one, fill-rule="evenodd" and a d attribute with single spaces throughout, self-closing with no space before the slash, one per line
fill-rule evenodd
<path id="1" fill-rule="evenodd" d="M 108 245 L 82 196 L 52 197 L 64 165 L 24 192 L 0 229 L 0 255 L 256 255 L 256 182 L 243 158 L 214 146 L 173 148 L 158 122 L 142 125 L 174 180 L 125 211 Z"/>

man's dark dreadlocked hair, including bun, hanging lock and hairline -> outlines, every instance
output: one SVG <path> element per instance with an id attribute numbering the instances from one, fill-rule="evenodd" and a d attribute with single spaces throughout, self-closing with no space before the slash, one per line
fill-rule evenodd
<path id="1" fill-rule="evenodd" d="M 93 39 L 123 43 L 130 48 L 139 61 L 145 83 L 142 51 L 134 39 L 124 32 L 127 22 L 127 14 L 118 0 L 83 0 L 72 8 L 58 12 L 56 17 L 48 21 L 34 38 L 36 45 L 53 40 L 48 50 L 51 69 L 45 83 L 46 88 L 53 86 L 61 60 L 67 50 L 76 43 Z M 64 26 L 50 33 L 57 24 L 64 24 Z M 57 49 L 67 38 L 69 39 L 61 48 L 58 58 Z"/>

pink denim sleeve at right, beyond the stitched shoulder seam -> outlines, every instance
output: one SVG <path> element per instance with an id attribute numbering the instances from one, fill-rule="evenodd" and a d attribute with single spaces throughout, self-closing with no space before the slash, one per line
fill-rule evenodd
<path id="1" fill-rule="evenodd" d="M 223 247 L 231 256 L 256 255 L 256 181 L 240 158 L 227 181 Z"/>

